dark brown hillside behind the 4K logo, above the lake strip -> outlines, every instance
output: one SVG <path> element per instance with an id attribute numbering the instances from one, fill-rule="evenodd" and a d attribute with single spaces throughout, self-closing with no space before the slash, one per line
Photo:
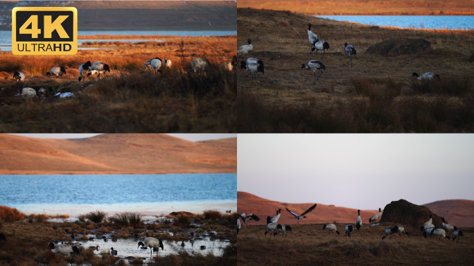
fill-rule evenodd
<path id="1" fill-rule="evenodd" d="M 78 30 L 237 30 L 234 1 L 1 1 L 0 30 L 15 6 L 78 9 Z"/>

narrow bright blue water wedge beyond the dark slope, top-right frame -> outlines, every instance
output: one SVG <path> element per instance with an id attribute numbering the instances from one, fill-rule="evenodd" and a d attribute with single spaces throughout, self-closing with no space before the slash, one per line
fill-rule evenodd
<path id="1" fill-rule="evenodd" d="M 474 16 L 315 16 L 376 26 L 400 28 L 472 29 Z"/>

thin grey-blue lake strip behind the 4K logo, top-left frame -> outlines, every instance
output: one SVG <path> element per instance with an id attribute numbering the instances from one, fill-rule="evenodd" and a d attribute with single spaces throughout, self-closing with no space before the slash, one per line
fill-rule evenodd
<path id="1" fill-rule="evenodd" d="M 78 36 L 84 35 L 172 35 L 172 36 L 227 36 L 227 35 L 236 35 L 236 30 L 177 30 L 177 31 L 166 31 L 166 30 L 136 30 L 136 31 L 126 31 L 126 30 L 79 30 Z M 78 44 L 81 45 L 82 42 L 162 42 L 163 40 L 156 39 L 79 39 Z M 12 51 L 12 32 L 11 30 L 0 30 L 0 50 L 1 51 Z M 79 47 L 79 50 L 82 50 L 82 47 Z"/>

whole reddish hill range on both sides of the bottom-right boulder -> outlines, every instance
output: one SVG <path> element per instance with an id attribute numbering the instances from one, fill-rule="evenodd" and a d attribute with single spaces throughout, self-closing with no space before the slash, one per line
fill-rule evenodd
<path id="1" fill-rule="evenodd" d="M 312 204 L 317 202 L 308 202 L 302 204 L 287 204 L 284 202 L 274 202 L 263 199 L 250 193 L 237 192 L 237 211 L 238 213 L 254 213 L 261 221 L 251 222 L 252 224 L 266 224 L 267 216 L 276 215 L 277 209 L 281 208 L 280 224 L 295 224 L 296 220 L 286 211 L 285 206 L 294 213 L 301 214 L 306 211 Z M 450 224 L 457 227 L 474 227 L 474 201 L 465 199 L 443 200 L 424 204 L 432 213 L 443 216 L 446 210 L 450 212 L 445 216 Z M 382 208 L 384 206 L 380 206 Z M 378 213 L 378 210 L 360 210 L 362 224 L 367 224 L 369 218 Z M 317 203 L 317 207 L 306 218 L 301 220 L 301 224 L 322 224 L 325 222 L 355 223 L 357 219 L 357 209 L 350 209 L 340 206 L 324 205 Z"/>

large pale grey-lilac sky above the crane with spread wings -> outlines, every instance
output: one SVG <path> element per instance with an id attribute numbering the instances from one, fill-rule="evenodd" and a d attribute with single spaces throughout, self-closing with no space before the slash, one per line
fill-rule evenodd
<path id="1" fill-rule="evenodd" d="M 474 134 L 238 134 L 237 189 L 378 209 L 474 200 Z"/>

